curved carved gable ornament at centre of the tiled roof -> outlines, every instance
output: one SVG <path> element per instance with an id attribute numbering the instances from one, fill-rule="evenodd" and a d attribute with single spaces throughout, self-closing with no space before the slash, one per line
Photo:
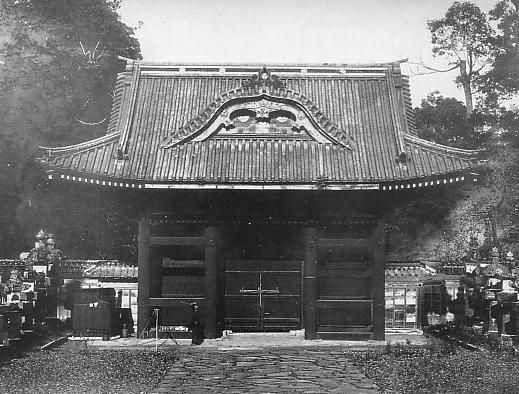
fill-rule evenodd
<path id="1" fill-rule="evenodd" d="M 345 134 L 337 138 L 337 135 L 326 132 L 307 105 L 288 98 L 287 93 L 296 98 L 300 96 L 286 89 L 277 76 L 263 68 L 241 88 L 224 93 L 215 100 L 208 107 L 214 108 L 210 111 L 211 116 L 204 116 L 203 122 L 201 116 L 188 122 L 170 136 L 162 148 L 191 141 L 229 138 L 313 140 L 350 148 Z M 323 118 L 320 116 L 321 120 Z M 330 122 L 327 124 L 331 125 Z"/>

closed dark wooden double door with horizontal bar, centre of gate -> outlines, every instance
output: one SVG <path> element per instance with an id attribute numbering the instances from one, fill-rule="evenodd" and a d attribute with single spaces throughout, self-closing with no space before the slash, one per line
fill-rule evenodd
<path id="1" fill-rule="evenodd" d="M 228 260 L 225 326 L 233 331 L 287 331 L 302 327 L 302 262 Z"/>

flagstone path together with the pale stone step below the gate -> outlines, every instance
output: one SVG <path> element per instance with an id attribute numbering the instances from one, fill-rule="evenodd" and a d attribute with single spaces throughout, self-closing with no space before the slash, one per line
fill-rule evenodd
<path id="1" fill-rule="evenodd" d="M 352 350 L 392 345 L 443 346 L 420 332 L 386 333 L 385 341 L 305 340 L 304 332 L 225 332 L 191 346 L 190 339 L 83 338 L 96 349 L 174 348 L 178 356 L 154 393 L 378 393 L 347 358 Z"/>

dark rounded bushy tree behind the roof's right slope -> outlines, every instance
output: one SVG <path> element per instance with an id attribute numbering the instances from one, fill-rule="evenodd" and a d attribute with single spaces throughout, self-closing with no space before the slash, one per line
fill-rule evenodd
<path id="1" fill-rule="evenodd" d="M 466 118 L 465 105 L 438 91 L 427 95 L 420 107 L 414 108 L 417 133 L 426 140 L 458 148 L 481 147 L 486 134 L 474 132 Z"/>

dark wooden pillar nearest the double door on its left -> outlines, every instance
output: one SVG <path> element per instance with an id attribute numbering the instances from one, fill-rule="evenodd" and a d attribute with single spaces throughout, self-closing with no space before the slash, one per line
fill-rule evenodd
<path id="1" fill-rule="evenodd" d="M 205 336 L 218 338 L 218 233 L 216 227 L 205 230 Z"/>

